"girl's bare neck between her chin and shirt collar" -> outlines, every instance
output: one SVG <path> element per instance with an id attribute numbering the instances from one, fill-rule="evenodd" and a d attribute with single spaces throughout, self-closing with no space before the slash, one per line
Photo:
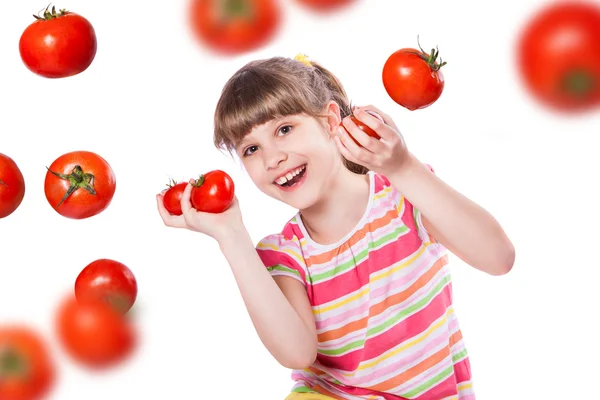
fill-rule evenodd
<path id="1" fill-rule="evenodd" d="M 320 244 L 342 239 L 360 221 L 369 201 L 369 178 L 346 168 L 332 176 L 327 193 L 300 215 L 311 238 Z"/>

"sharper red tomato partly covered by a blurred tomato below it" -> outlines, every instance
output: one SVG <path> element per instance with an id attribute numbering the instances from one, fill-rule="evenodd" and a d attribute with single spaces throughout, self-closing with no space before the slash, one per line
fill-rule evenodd
<path id="1" fill-rule="evenodd" d="M 80 303 L 103 301 L 126 314 L 137 297 L 137 281 L 124 264 L 100 259 L 88 264 L 75 280 L 75 297 Z"/>

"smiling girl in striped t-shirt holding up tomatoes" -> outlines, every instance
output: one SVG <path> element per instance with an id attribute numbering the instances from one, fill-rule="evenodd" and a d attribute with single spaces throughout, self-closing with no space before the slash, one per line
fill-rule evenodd
<path id="1" fill-rule="evenodd" d="M 352 122 L 342 85 L 317 63 L 248 63 L 223 89 L 214 141 L 298 213 L 256 247 L 237 198 L 221 214 L 197 212 L 188 185 L 183 215 L 159 194 L 160 215 L 217 240 L 262 342 L 294 370 L 288 400 L 474 399 L 446 249 L 502 275 L 513 246 L 409 152 L 389 116 L 353 112 L 381 139 Z"/>

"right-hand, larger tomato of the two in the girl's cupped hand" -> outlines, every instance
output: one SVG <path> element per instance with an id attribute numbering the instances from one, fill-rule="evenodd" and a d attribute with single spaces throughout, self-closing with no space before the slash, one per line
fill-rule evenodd
<path id="1" fill-rule="evenodd" d="M 210 171 L 194 184 L 191 203 L 198 211 L 220 213 L 233 202 L 235 185 L 231 177 L 221 170 Z"/>

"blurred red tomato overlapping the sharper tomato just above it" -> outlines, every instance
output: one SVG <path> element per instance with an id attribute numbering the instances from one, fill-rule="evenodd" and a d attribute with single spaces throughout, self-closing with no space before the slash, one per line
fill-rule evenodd
<path id="1" fill-rule="evenodd" d="M 123 315 L 106 303 L 79 303 L 69 296 L 56 315 L 56 334 L 66 352 L 90 368 L 125 361 L 136 345 L 136 331 Z"/>

